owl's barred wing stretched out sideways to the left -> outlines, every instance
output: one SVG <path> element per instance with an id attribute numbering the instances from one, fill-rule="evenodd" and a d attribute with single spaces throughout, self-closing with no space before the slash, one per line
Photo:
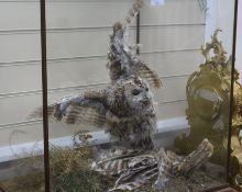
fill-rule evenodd
<path id="1" fill-rule="evenodd" d="M 105 125 L 106 112 L 107 109 L 99 92 L 86 92 L 84 95 L 63 98 L 47 108 L 48 116 L 56 121 L 99 127 Z M 31 114 L 31 117 L 42 117 L 42 108 L 40 108 Z"/>

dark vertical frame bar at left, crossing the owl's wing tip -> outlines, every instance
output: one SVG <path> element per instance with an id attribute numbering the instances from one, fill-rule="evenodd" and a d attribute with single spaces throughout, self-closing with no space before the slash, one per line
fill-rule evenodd
<path id="1" fill-rule="evenodd" d="M 47 59 L 46 59 L 46 20 L 45 0 L 41 5 L 41 49 L 42 49 L 42 95 L 43 95 L 43 134 L 44 134 L 44 177 L 45 192 L 50 192 L 50 155 L 48 155 L 48 115 L 47 115 Z"/>

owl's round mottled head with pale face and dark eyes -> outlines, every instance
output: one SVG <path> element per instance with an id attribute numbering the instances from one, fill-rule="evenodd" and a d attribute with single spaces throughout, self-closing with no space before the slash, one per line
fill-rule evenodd
<path id="1" fill-rule="evenodd" d="M 153 111 L 152 93 L 146 80 L 136 76 L 119 80 L 108 90 L 108 103 L 119 116 Z"/>

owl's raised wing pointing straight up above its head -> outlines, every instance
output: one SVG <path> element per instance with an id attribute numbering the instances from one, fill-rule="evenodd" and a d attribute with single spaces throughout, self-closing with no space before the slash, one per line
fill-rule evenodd
<path id="1" fill-rule="evenodd" d="M 112 83 L 117 80 L 130 77 L 132 75 L 146 79 L 151 86 L 160 88 L 162 86 L 158 76 L 151 70 L 144 61 L 135 54 L 134 49 L 128 44 L 128 25 L 135 18 L 143 5 L 142 0 L 136 0 L 129 11 L 124 22 L 117 22 L 113 25 L 113 34 L 110 35 L 110 48 L 108 53 L 107 67 L 110 70 Z"/>

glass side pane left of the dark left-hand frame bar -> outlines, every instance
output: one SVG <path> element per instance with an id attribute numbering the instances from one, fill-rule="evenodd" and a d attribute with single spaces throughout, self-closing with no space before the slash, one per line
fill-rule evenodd
<path id="1" fill-rule="evenodd" d="M 0 2 L 0 191 L 44 189 L 40 2 Z"/>

